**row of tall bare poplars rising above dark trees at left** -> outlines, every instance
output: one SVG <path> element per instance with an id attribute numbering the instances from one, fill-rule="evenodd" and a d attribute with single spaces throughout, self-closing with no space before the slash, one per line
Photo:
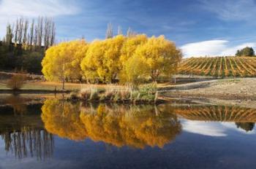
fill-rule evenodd
<path id="1" fill-rule="evenodd" d="M 55 42 L 56 28 L 50 17 L 38 17 L 37 22 L 20 17 L 12 25 L 7 25 L 6 36 L 3 42 L 7 45 L 14 44 L 25 50 L 47 50 Z"/>

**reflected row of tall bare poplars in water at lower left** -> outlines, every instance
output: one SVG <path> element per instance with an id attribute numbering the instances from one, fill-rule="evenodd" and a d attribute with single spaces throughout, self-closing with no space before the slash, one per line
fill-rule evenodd
<path id="1" fill-rule="evenodd" d="M 53 154 L 53 135 L 46 130 L 22 127 L 1 133 L 7 152 L 14 152 L 15 157 L 37 157 L 44 160 Z"/>

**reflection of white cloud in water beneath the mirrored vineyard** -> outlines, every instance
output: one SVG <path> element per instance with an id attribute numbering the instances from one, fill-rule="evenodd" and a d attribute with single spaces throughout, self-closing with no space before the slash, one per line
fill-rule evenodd
<path id="1" fill-rule="evenodd" d="M 227 136 L 225 129 L 218 122 L 200 122 L 184 120 L 182 123 L 183 130 L 189 133 L 208 135 L 214 137 Z"/>

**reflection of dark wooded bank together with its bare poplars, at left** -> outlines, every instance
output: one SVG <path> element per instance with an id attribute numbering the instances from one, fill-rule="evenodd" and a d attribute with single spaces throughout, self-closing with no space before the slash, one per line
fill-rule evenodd
<path id="1" fill-rule="evenodd" d="M 35 113 L 41 105 L 23 107 Z M 17 110 L 17 109 L 16 109 Z M 15 108 L 1 107 L 0 135 L 5 150 L 15 157 L 37 157 L 43 160 L 53 154 L 53 136 L 43 128 L 40 111 L 36 114 L 16 114 Z"/>

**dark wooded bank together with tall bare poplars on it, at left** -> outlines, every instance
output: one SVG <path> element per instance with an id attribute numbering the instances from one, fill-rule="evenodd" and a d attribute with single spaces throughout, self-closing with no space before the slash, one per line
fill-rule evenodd
<path id="1" fill-rule="evenodd" d="M 39 74 L 45 50 L 56 43 L 53 18 L 31 20 L 19 17 L 7 24 L 6 35 L 0 41 L 0 69 L 14 69 Z"/>

